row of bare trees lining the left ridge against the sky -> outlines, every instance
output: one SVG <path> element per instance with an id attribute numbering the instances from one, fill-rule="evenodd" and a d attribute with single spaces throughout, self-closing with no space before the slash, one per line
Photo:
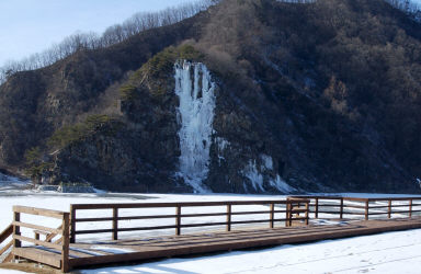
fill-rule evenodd
<path id="1" fill-rule="evenodd" d="M 194 16 L 220 0 L 198 0 L 191 3 L 168 8 L 159 12 L 139 12 L 124 21 L 105 30 L 100 36 L 96 33 L 75 33 L 62 39 L 59 44 L 53 44 L 48 49 L 33 54 L 20 61 L 8 61 L 0 67 L 0 84 L 12 75 L 34 70 L 53 65 L 78 50 L 91 50 L 122 43 L 146 30 L 178 23 L 184 19 Z"/>

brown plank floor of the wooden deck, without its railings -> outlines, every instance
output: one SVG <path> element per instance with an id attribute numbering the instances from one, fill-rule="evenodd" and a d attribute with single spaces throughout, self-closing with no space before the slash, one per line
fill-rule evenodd
<path id="1" fill-rule="evenodd" d="M 207 232 L 129 240 L 71 243 L 69 267 L 83 267 L 106 263 L 125 263 L 186 254 L 230 251 L 246 248 L 301 243 L 421 228 L 421 218 L 357 220 L 346 225 L 297 226 L 262 228 L 229 232 Z M 36 262 L 60 267 L 61 254 L 42 247 L 16 248 L 14 254 Z"/>

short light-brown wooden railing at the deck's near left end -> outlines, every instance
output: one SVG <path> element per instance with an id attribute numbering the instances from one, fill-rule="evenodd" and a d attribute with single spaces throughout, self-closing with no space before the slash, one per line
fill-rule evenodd
<path id="1" fill-rule="evenodd" d="M 21 221 L 21 215 L 37 215 L 59 219 L 61 225 L 58 228 L 49 228 L 45 226 L 29 224 Z M 13 250 L 12 253 L 19 254 L 18 249 L 22 247 L 22 242 L 30 242 L 35 246 L 54 249 L 60 252 L 60 269 L 62 272 L 69 270 L 69 213 L 57 212 L 43 208 L 34 208 L 26 206 L 13 206 Z M 22 236 L 21 228 L 33 230 L 34 238 Z M 39 239 L 39 235 L 45 235 L 45 240 Z M 60 239 L 52 241 L 56 236 Z M 39 262 L 43 262 L 39 258 Z"/>

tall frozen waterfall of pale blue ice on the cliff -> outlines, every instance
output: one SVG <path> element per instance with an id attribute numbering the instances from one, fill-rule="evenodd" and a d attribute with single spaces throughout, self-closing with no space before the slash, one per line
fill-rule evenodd
<path id="1" fill-rule="evenodd" d="M 200 62 L 178 61 L 174 70 L 175 94 L 180 99 L 180 175 L 195 192 L 209 192 L 202 181 L 208 173 L 215 83 Z"/>

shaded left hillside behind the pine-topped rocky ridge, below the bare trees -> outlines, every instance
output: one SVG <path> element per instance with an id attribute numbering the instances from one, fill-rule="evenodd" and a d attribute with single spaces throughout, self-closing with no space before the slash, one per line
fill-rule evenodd
<path id="1" fill-rule="evenodd" d="M 78 122 L 80 115 L 98 109 L 99 102 L 101 107 L 115 104 L 118 92 L 114 85 L 164 47 L 196 35 L 201 30 L 197 21 L 205 21 L 203 15 L 197 18 L 201 20 L 146 31 L 109 48 L 81 49 L 50 67 L 13 75 L 0 87 L 0 165 L 22 164 L 25 150 L 45 145 L 56 129 Z"/>

